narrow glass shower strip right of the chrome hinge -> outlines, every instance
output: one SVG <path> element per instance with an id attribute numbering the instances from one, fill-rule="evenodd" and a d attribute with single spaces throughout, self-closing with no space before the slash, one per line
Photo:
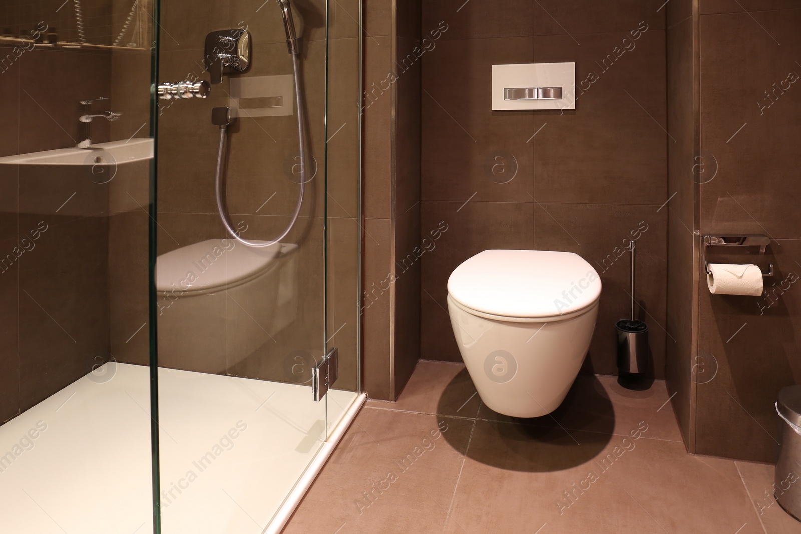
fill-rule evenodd
<path id="1" fill-rule="evenodd" d="M 331 436 L 361 391 L 361 2 L 328 2 L 327 11 L 326 343 L 338 355 L 338 379 L 326 399 Z"/>

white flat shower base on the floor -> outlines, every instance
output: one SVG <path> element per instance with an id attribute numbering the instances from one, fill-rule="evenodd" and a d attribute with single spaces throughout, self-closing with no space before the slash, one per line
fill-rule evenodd
<path id="1" fill-rule="evenodd" d="M 3 534 L 153 532 L 149 369 L 105 367 L 0 427 Z M 364 403 L 310 389 L 159 368 L 161 532 L 280 532 Z"/>

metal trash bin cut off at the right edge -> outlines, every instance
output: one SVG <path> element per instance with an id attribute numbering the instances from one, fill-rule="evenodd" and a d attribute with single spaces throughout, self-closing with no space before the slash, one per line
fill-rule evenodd
<path id="1" fill-rule="evenodd" d="M 801 386 L 779 391 L 776 412 L 783 422 L 773 495 L 785 512 L 801 521 Z"/>

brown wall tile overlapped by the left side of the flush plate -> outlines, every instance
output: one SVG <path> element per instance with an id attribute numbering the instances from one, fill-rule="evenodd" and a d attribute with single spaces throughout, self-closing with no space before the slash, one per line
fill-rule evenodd
<path id="1" fill-rule="evenodd" d="M 541 122 L 532 111 L 493 111 L 490 75 L 493 63 L 531 62 L 531 38 L 443 40 L 422 60 L 421 199 L 526 199 L 526 140 Z"/>

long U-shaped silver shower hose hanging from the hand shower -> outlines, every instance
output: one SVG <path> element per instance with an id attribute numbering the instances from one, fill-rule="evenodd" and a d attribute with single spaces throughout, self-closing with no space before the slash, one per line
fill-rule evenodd
<path id="1" fill-rule="evenodd" d="M 302 98 L 302 86 L 303 83 L 301 82 L 301 74 L 300 74 L 300 59 L 299 54 L 292 54 L 292 68 L 295 70 L 295 100 L 297 102 L 297 111 L 298 111 L 298 143 L 300 145 L 300 188 L 298 190 L 298 202 L 295 206 L 295 212 L 292 214 L 292 219 L 289 220 L 289 224 L 284 229 L 281 234 L 273 239 L 272 241 L 249 241 L 248 239 L 243 239 L 237 231 L 234 230 L 234 227 L 231 225 L 231 219 L 228 215 L 227 207 L 225 206 L 225 191 L 223 191 L 223 155 L 225 153 L 225 138 L 227 134 L 227 125 L 223 124 L 219 126 L 219 151 L 217 151 L 217 173 L 215 175 L 215 190 L 217 194 L 217 211 L 219 211 L 219 218 L 222 219 L 223 225 L 227 230 L 228 234 L 231 235 L 232 238 L 239 241 L 239 243 L 244 243 L 248 245 L 248 247 L 269 247 L 276 243 L 280 243 L 281 239 L 284 239 L 289 231 L 292 230 L 292 227 L 295 226 L 295 223 L 298 219 L 298 215 L 300 215 L 300 207 L 303 204 L 303 194 L 304 194 L 304 187 L 306 184 L 306 170 L 308 162 L 308 155 L 306 153 L 306 122 L 304 120 L 304 106 L 303 106 L 303 98 Z"/>

